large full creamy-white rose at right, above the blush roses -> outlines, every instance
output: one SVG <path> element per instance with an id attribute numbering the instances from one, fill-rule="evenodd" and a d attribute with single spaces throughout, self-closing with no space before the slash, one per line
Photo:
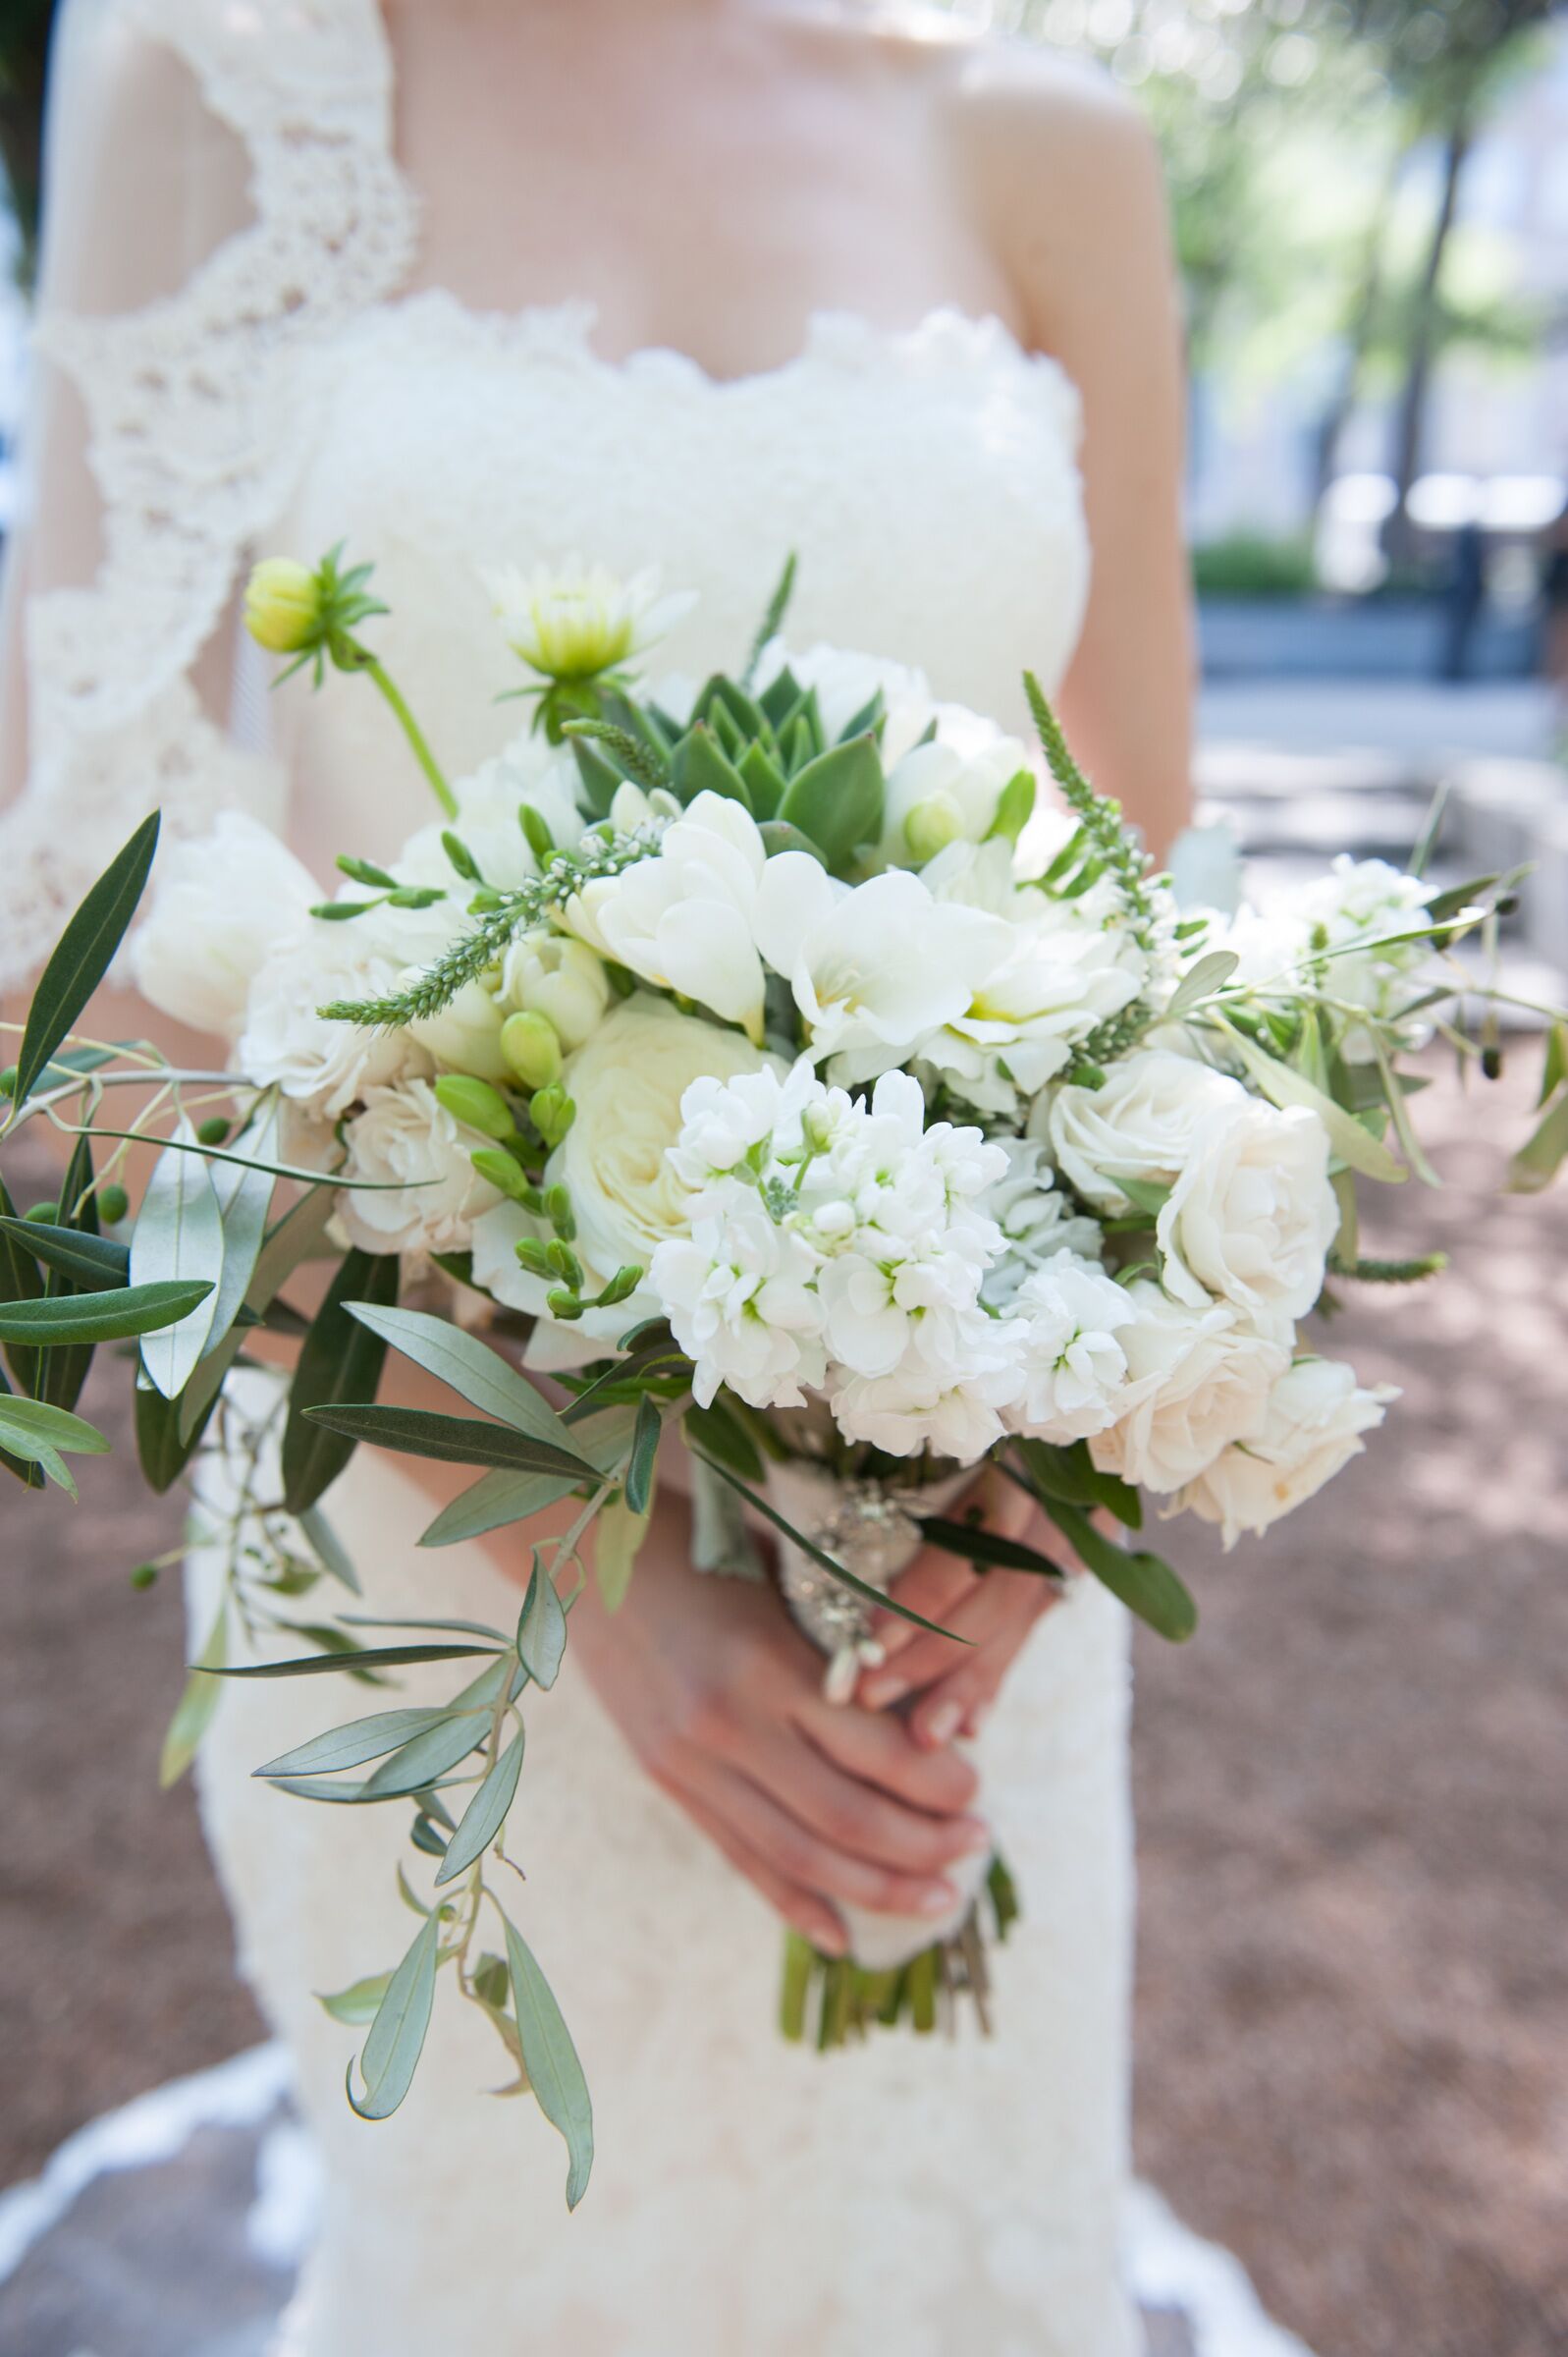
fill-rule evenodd
<path id="1" fill-rule="evenodd" d="M 1219 1294 L 1259 1329 L 1287 1336 L 1323 1292 L 1337 1228 L 1318 1115 L 1243 1096 L 1198 1124 L 1155 1240 L 1179 1301 L 1203 1308 Z"/>

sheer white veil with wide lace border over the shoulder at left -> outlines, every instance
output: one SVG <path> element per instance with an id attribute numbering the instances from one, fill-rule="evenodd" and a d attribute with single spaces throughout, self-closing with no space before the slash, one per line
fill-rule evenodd
<path id="1" fill-rule="evenodd" d="M 226 804 L 281 816 L 281 780 L 203 709 L 196 665 L 288 486 L 302 346 L 408 269 L 389 113 L 375 0 L 61 9 L 7 554 L 26 783 L 0 816 L 0 985 L 38 966 L 149 808 L 182 832 Z"/>

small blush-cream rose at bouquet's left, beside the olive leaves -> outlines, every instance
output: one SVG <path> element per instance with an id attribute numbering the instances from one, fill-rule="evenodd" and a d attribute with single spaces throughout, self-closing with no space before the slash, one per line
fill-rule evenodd
<path id="1" fill-rule="evenodd" d="M 377 1186 L 337 1197 L 349 1242 L 361 1252 L 467 1252 L 474 1221 L 500 1202 L 469 1160 L 488 1143 L 453 1120 L 427 1080 L 368 1089 L 363 1113 L 344 1129 L 347 1176 Z"/>

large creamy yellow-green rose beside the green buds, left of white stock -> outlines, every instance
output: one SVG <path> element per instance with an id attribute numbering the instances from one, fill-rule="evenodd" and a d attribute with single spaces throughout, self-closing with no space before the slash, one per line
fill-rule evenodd
<path id="1" fill-rule="evenodd" d="M 705 1075 L 724 1080 L 757 1072 L 766 1058 L 740 1032 L 681 1016 L 663 999 L 627 999 L 587 1047 L 566 1063 L 564 1087 L 578 1115 L 545 1167 L 545 1181 L 561 1181 L 578 1219 L 575 1254 L 587 1292 L 599 1292 L 618 1268 L 648 1268 L 670 1235 L 686 1235 L 691 1190 L 667 1160 L 681 1134 L 681 1096 Z M 547 1230 L 512 1202 L 495 1204 L 474 1228 L 474 1280 L 512 1308 L 545 1318 L 549 1285 L 519 1266 L 521 1235 Z M 615 1341 L 639 1318 L 658 1315 L 660 1301 L 644 1285 L 608 1310 L 587 1310 L 566 1334 L 561 1353 L 592 1358 L 594 1346 Z M 535 1365 L 542 1362 L 531 1353 Z"/>

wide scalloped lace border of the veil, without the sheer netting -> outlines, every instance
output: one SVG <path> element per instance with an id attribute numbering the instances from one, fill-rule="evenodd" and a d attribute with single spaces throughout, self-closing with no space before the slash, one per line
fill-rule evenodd
<path id="1" fill-rule="evenodd" d="M 144 811 L 163 806 L 174 832 L 226 804 L 281 811 L 274 766 L 226 742 L 189 669 L 290 478 L 295 356 L 403 280 L 417 229 L 373 0 L 123 5 L 245 141 L 255 222 L 179 295 L 35 332 L 87 408 L 106 559 L 92 587 L 31 601 L 31 773 L 0 820 L 0 981 L 35 969 Z"/>

